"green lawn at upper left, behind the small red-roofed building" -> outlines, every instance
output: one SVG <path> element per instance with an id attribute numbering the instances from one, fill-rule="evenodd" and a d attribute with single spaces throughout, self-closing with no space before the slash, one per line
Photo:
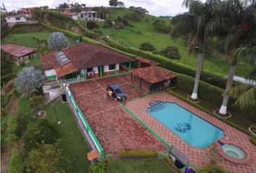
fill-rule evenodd
<path id="1" fill-rule="evenodd" d="M 1 45 L 6 43 L 13 43 L 17 45 L 25 45 L 33 48 L 38 47 L 38 43 L 33 39 L 33 37 L 40 40 L 48 40 L 48 37 L 51 35 L 51 32 L 29 32 L 29 33 L 11 33 L 4 37 L 1 40 Z M 72 40 L 68 37 L 69 44 L 72 45 L 75 43 L 75 40 Z"/>

